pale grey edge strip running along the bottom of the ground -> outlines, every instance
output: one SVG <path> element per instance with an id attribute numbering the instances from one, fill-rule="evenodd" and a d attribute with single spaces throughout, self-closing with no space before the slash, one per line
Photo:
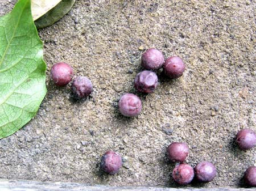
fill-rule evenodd
<path id="1" fill-rule="evenodd" d="M 30 180 L 0 179 L 1 191 L 255 191 L 256 188 L 166 188 L 152 186 L 106 186 L 74 182 L 39 182 Z"/>

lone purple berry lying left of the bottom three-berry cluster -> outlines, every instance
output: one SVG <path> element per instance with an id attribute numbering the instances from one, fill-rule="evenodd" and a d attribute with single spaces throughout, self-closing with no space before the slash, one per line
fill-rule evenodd
<path id="1" fill-rule="evenodd" d="M 110 174 L 115 174 L 122 167 L 121 156 L 114 151 L 107 151 L 101 158 L 101 169 Z"/>

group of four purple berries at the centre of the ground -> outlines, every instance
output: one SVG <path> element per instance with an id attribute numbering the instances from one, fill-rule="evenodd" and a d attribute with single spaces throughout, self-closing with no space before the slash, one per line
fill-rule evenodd
<path id="1" fill-rule="evenodd" d="M 134 80 L 134 87 L 138 92 L 152 93 L 158 86 L 158 76 L 154 72 L 163 67 L 164 74 L 171 79 L 176 79 L 183 75 L 185 65 L 181 58 L 172 56 L 164 61 L 163 53 L 158 49 L 147 49 L 142 54 L 141 65 L 144 69 L 138 73 Z M 119 111 L 126 117 L 138 116 L 141 113 L 141 99 L 134 94 L 125 94 L 118 103 Z"/>

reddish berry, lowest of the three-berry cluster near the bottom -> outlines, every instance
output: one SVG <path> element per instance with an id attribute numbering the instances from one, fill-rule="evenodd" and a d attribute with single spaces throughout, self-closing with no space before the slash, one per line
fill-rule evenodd
<path id="1" fill-rule="evenodd" d="M 188 164 L 178 164 L 172 171 L 172 177 L 180 185 L 189 184 L 194 177 L 194 169 Z"/>

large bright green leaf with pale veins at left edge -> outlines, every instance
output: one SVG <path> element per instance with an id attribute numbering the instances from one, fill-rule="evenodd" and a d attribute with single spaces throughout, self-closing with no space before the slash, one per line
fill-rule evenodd
<path id="1" fill-rule="evenodd" d="M 13 11 L 0 17 L 0 138 L 30 121 L 45 95 L 43 43 L 30 0 L 20 0 Z"/>

